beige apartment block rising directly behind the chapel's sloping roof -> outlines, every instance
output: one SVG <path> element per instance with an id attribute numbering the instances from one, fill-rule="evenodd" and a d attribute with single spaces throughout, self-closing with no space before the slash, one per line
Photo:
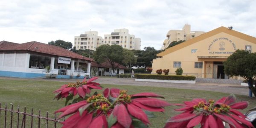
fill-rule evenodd
<path id="1" fill-rule="evenodd" d="M 205 32 L 202 31 L 191 31 L 191 26 L 189 24 L 185 24 L 182 30 L 169 30 L 166 34 L 167 39 L 163 41 L 163 46 L 161 49 L 166 49 L 172 41 L 180 41 L 195 38 Z"/>

